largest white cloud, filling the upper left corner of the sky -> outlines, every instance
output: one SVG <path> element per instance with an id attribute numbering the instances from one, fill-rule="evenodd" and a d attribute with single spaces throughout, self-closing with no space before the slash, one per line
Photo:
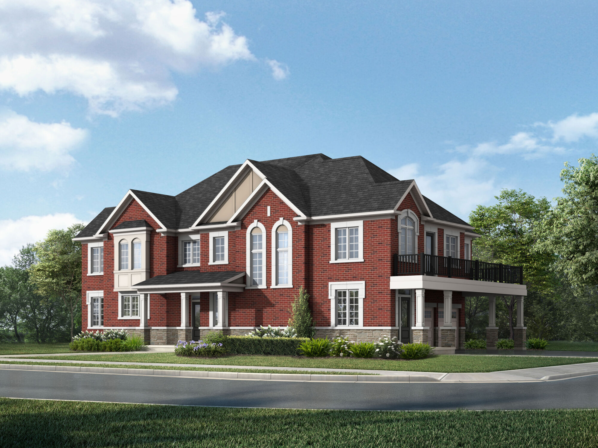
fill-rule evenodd
<path id="1" fill-rule="evenodd" d="M 0 0 L 0 89 L 84 97 L 116 116 L 172 102 L 171 72 L 255 60 L 222 13 L 188 0 Z"/>

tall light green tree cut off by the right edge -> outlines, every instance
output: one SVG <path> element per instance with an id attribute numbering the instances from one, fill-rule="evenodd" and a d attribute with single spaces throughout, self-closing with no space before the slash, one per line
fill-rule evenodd
<path id="1" fill-rule="evenodd" d="M 556 254 L 554 268 L 583 293 L 598 285 L 598 158 L 565 162 L 563 197 L 536 229 L 538 251 Z"/>

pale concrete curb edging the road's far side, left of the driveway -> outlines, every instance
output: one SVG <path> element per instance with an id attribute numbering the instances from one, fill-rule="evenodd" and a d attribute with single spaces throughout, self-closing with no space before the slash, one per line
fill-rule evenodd
<path id="1" fill-rule="evenodd" d="M 183 378 L 247 379 L 258 381 L 313 382 L 439 382 L 426 375 L 316 375 L 301 373 L 210 372 L 208 370 L 123 369 L 120 367 L 38 366 L 30 364 L 0 364 L 4 370 L 38 370 L 45 372 L 110 373 L 112 375 L 180 376 Z"/>

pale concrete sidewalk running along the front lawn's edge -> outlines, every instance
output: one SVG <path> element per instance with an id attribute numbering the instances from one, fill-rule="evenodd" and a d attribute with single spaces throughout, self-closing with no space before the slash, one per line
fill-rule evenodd
<path id="1" fill-rule="evenodd" d="M 56 360 L 52 359 L 44 359 L 44 360 L 23 360 L 22 358 L 7 358 L 3 357 L 2 361 L 13 361 L 19 364 L 0 364 L 0 369 L 3 368 L 2 366 L 10 366 L 8 369 L 17 369 L 21 370 L 20 367 L 28 364 L 36 364 L 36 363 L 52 363 L 56 362 Z M 231 365 L 220 365 L 220 364 L 167 364 L 167 363 L 127 363 L 127 362 L 118 362 L 118 361 L 78 361 L 78 360 L 60 360 L 60 363 L 65 364 L 90 364 L 90 367 L 93 364 L 118 364 L 123 366 L 147 366 L 147 367 L 202 367 L 206 369 L 255 369 L 255 370 L 280 370 L 281 373 L 288 371 L 288 370 L 295 370 L 295 371 L 303 371 L 303 372 L 322 372 L 323 374 L 327 372 L 346 372 L 346 373 L 353 373 L 355 376 L 364 373 L 374 374 L 374 375 L 381 375 L 385 378 L 374 377 L 368 379 L 368 381 L 404 381 L 404 382 L 421 382 L 421 381 L 431 381 L 431 382 L 537 382 L 537 381 L 553 381 L 557 379 L 566 379 L 566 378 L 576 378 L 580 376 L 588 376 L 588 375 L 597 375 L 598 374 L 598 362 L 597 363 L 582 363 L 582 364 L 568 364 L 565 366 L 549 366 L 549 367 L 533 367 L 532 369 L 517 369 L 517 370 L 502 370 L 499 372 L 486 372 L 486 373 L 441 373 L 441 372 L 412 372 L 412 371 L 398 371 L 398 370 L 358 370 L 358 369 L 318 369 L 313 367 L 272 367 L 272 366 L 231 366 Z M 44 367 L 44 366 L 38 366 Z M 45 367 L 53 367 L 53 366 L 45 366 Z M 57 368 L 60 366 L 57 366 Z M 7 367 L 4 367 L 7 368 Z M 81 367 L 81 369 L 86 369 L 85 367 Z M 36 369 L 37 370 L 37 369 Z M 41 370 L 41 369 L 39 369 Z M 43 369 L 46 370 L 46 369 Z M 56 370 L 56 369 L 50 369 Z M 118 369 L 118 370 L 129 370 L 127 373 L 132 373 L 135 375 L 140 375 L 140 369 Z M 145 369 L 147 370 L 147 369 Z M 80 372 L 84 372 L 84 370 L 78 370 Z M 103 372 L 103 371 L 102 371 Z M 93 373 L 102 373 L 99 371 Z M 172 375 L 172 373 L 164 373 L 164 370 L 155 369 L 151 375 Z M 170 370 L 167 372 L 179 372 L 178 375 L 181 375 L 180 372 L 190 372 L 185 370 Z M 125 373 L 125 372 L 121 372 Z M 214 374 L 218 373 L 233 373 L 233 372 L 212 372 Z M 266 379 L 264 375 L 270 374 L 261 374 L 261 373 L 244 373 L 244 379 L 253 379 L 252 375 L 255 375 L 256 378 L 254 379 Z M 272 374 L 274 375 L 274 374 Z M 184 375 L 181 375 L 184 376 Z M 218 375 L 219 376 L 219 375 Z M 260 378 L 261 376 L 261 378 Z M 345 377 L 347 375 L 312 375 L 319 378 L 318 381 L 351 381 L 351 378 L 339 378 Z M 353 375 L 349 375 L 352 377 Z M 323 377 L 331 377 L 329 379 L 324 379 Z M 395 377 L 395 378 L 392 378 Z M 222 378 L 219 376 L 219 378 Z M 233 377 L 226 377 L 226 378 L 233 378 Z M 237 376 L 234 376 L 237 378 Z M 290 376 L 289 376 L 290 378 Z M 305 380 L 301 380 L 305 381 Z M 355 379 L 357 381 L 357 379 Z M 365 380 L 361 380 L 365 381 Z"/>

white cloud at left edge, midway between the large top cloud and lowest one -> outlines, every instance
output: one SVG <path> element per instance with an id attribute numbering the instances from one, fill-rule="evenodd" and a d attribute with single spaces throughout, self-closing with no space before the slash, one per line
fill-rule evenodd
<path id="1" fill-rule="evenodd" d="M 75 161 L 71 152 L 86 136 L 86 130 L 65 121 L 38 123 L 16 112 L 0 110 L 0 168 L 16 171 L 68 168 Z"/>

